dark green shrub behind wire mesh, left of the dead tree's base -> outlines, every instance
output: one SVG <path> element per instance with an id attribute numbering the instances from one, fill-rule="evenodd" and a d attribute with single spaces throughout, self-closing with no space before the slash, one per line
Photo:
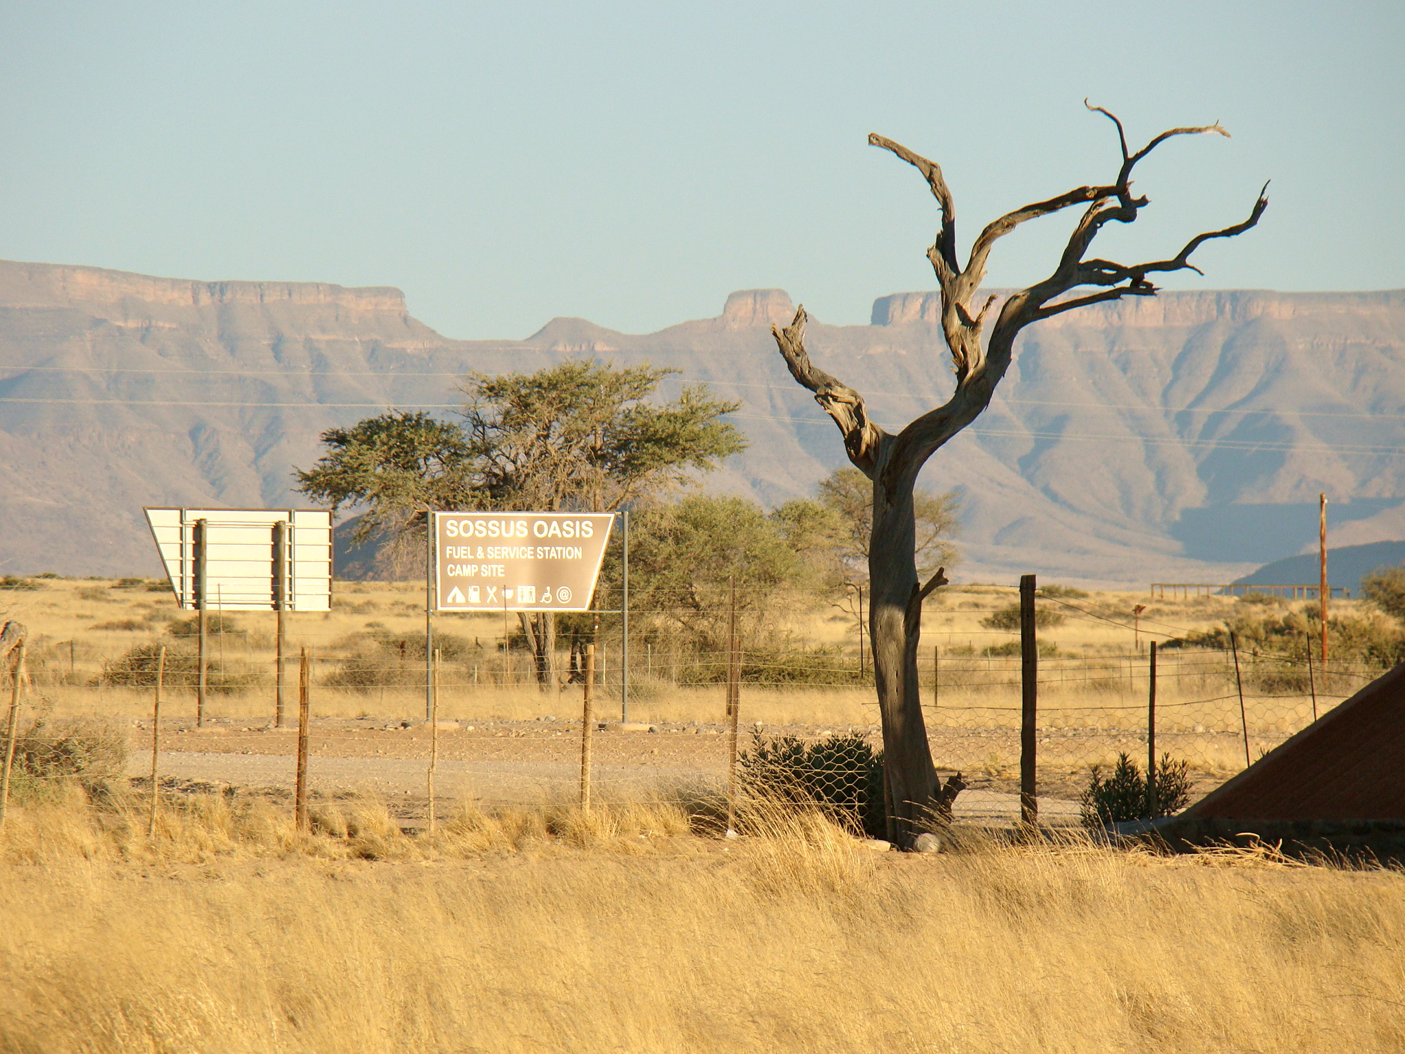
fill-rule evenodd
<path id="1" fill-rule="evenodd" d="M 832 735 L 805 743 L 792 735 L 757 732 L 738 756 L 740 777 L 757 797 L 821 805 L 853 833 L 882 838 L 882 750 L 860 735 Z"/>

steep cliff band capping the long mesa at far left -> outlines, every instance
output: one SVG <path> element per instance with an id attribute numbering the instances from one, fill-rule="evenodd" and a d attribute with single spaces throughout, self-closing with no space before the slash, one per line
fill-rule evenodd
<path id="1" fill-rule="evenodd" d="M 157 278 L 103 267 L 0 261 L 0 305 L 41 308 L 139 301 L 173 308 L 219 305 L 334 306 L 406 315 L 405 294 L 388 285 L 347 288 L 329 282 L 204 282 Z"/>

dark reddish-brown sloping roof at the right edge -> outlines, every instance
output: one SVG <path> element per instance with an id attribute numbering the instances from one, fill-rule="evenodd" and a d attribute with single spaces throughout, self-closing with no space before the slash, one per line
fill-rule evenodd
<path id="1" fill-rule="evenodd" d="M 1405 663 L 1197 801 L 1194 819 L 1405 819 Z"/>

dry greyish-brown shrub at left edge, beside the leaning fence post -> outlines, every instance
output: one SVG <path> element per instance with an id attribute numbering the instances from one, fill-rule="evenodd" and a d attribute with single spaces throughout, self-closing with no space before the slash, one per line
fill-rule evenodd
<path id="1" fill-rule="evenodd" d="M 38 717 L 18 735 L 10 791 L 15 801 L 52 798 L 66 783 L 100 790 L 126 769 L 126 735 L 96 718 L 51 724 Z"/>

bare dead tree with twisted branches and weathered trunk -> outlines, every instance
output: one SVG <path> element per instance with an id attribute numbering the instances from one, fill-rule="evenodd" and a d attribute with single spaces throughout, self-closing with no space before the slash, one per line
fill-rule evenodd
<path id="1" fill-rule="evenodd" d="M 797 308 L 791 325 L 784 329 L 771 327 L 791 375 L 813 392 L 815 402 L 839 427 L 849 460 L 873 481 L 873 533 L 868 548 L 873 601 L 868 625 L 892 802 L 889 822 L 894 835 L 903 845 L 910 845 L 934 816 L 948 814 L 951 801 L 965 786 L 960 773 L 946 784 L 937 776 L 917 696 L 922 601 L 947 583 L 944 568 L 937 568 L 926 583 L 917 578 L 913 555 L 913 483 L 917 472 L 927 458 L 989 405 L 995 386 L 1010 365 L 1014 339 L 1026 326 L 1090 304 L 1123 297 L 1152 297 L 1158 291 L 1148 277 L 1152 274 L 1180 270 L 1200 274 L 1190 263 L 1191 253 L 1210 239 L 1243 233 L 1259 222 L 1267 207 L 1264 184 L 1248 219 L 1221 230 L 1196 235 L 1176 256 L 1166 260 L 1121 264 L 1089 259 L 1093 239 L 1107 223 L 1132 223 L 1148 205 L 1146 197 L 1132 193 L 1131 177 L 1137 164 L 1152 150 L 1175 136 L 1205 132 L 1229 135 L 1218 124 L 1172 128 L 1132 152 L 1127 146 L 1123 122 L 1116 115 L 1102 107 L 1089 105 L 1089 110 L 1103 114 L 1117 128 L 1121 166 L 1113 183 L 1076 187 L 1066 194 L 1007 212 L 976 236 L 965 266 L 957 256 L 955 204 L 940 166 L 881 135 L 868 136 L 870 145 L 892 152 L 922 173 L 941 214 L 941 228 L 927 249 L 927 260 L 941 292 L 941 330 L 957 378 L 955 391 L 946 403 L 892 434 L 868 419 L 863 395 L 811 363 L 805 350 L 804 306 Z M 985 322 L 996 298 L 988 297 L 979 308 L 972 308 L 972 302 L 996 242 L 1020 223 L 1076 205 L 1086 208 L 1054 271 L 1044 281 L 1010 295 L 1000 305 L 989 336 L 982 340 Z M 1080 292 L 1065 297 L 1075 291 Z"/>

